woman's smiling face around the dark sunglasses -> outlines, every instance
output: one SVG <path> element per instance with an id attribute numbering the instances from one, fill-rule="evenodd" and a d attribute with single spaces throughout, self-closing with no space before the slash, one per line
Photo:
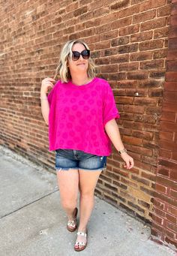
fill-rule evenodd
<path id="1" fill-rule="evenodd" d="M 86 47 L 83 46 L 83 44 L 74 44 L 72 51 L 77 51 L 81 53 L 83 50 L 86 50 Z M 87 69 L 89 66 L 89 59 L 83 59 L 83 56 L 80 55 L 80 59 L 77 61 L 69 60 L 68 61 L 68 67 L 70 69 L 71 76 L 72 74 L 81 74 L 81 73 L 87 73 Z"/>

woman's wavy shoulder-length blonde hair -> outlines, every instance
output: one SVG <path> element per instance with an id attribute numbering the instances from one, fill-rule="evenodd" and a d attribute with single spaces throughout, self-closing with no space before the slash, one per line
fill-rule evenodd
<path id="1" fill-rule="evenodd" d="M 86 47 L 86 50 L 89 50 L 88 45 L 83 40 L 71 40 L 64 45 L 60 53 L 58 67 L 55 70 L 55 77 L 54 77 L 55 79 L 59 74 L 62 80 L 62 83 L 68 83 L 68 81 L 71 80 L 71 73 L 68 68 L 68 60 L 72 59 L 72 47 L 74 46 L 74 44 L 83 44 L 83 46 Z M 90 58 L 89 58 L 87 74 L 89 78 L 95 77 L 95 63 Z"/>

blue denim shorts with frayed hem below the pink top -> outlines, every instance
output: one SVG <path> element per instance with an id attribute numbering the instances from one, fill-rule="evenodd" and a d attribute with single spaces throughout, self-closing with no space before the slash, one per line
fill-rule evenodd
<path id="1" fill-rule="evenodd" d="M 92 155 L 81 150 L 56 149 L 55 170 L 104 170 L 107 156 Z"/>

